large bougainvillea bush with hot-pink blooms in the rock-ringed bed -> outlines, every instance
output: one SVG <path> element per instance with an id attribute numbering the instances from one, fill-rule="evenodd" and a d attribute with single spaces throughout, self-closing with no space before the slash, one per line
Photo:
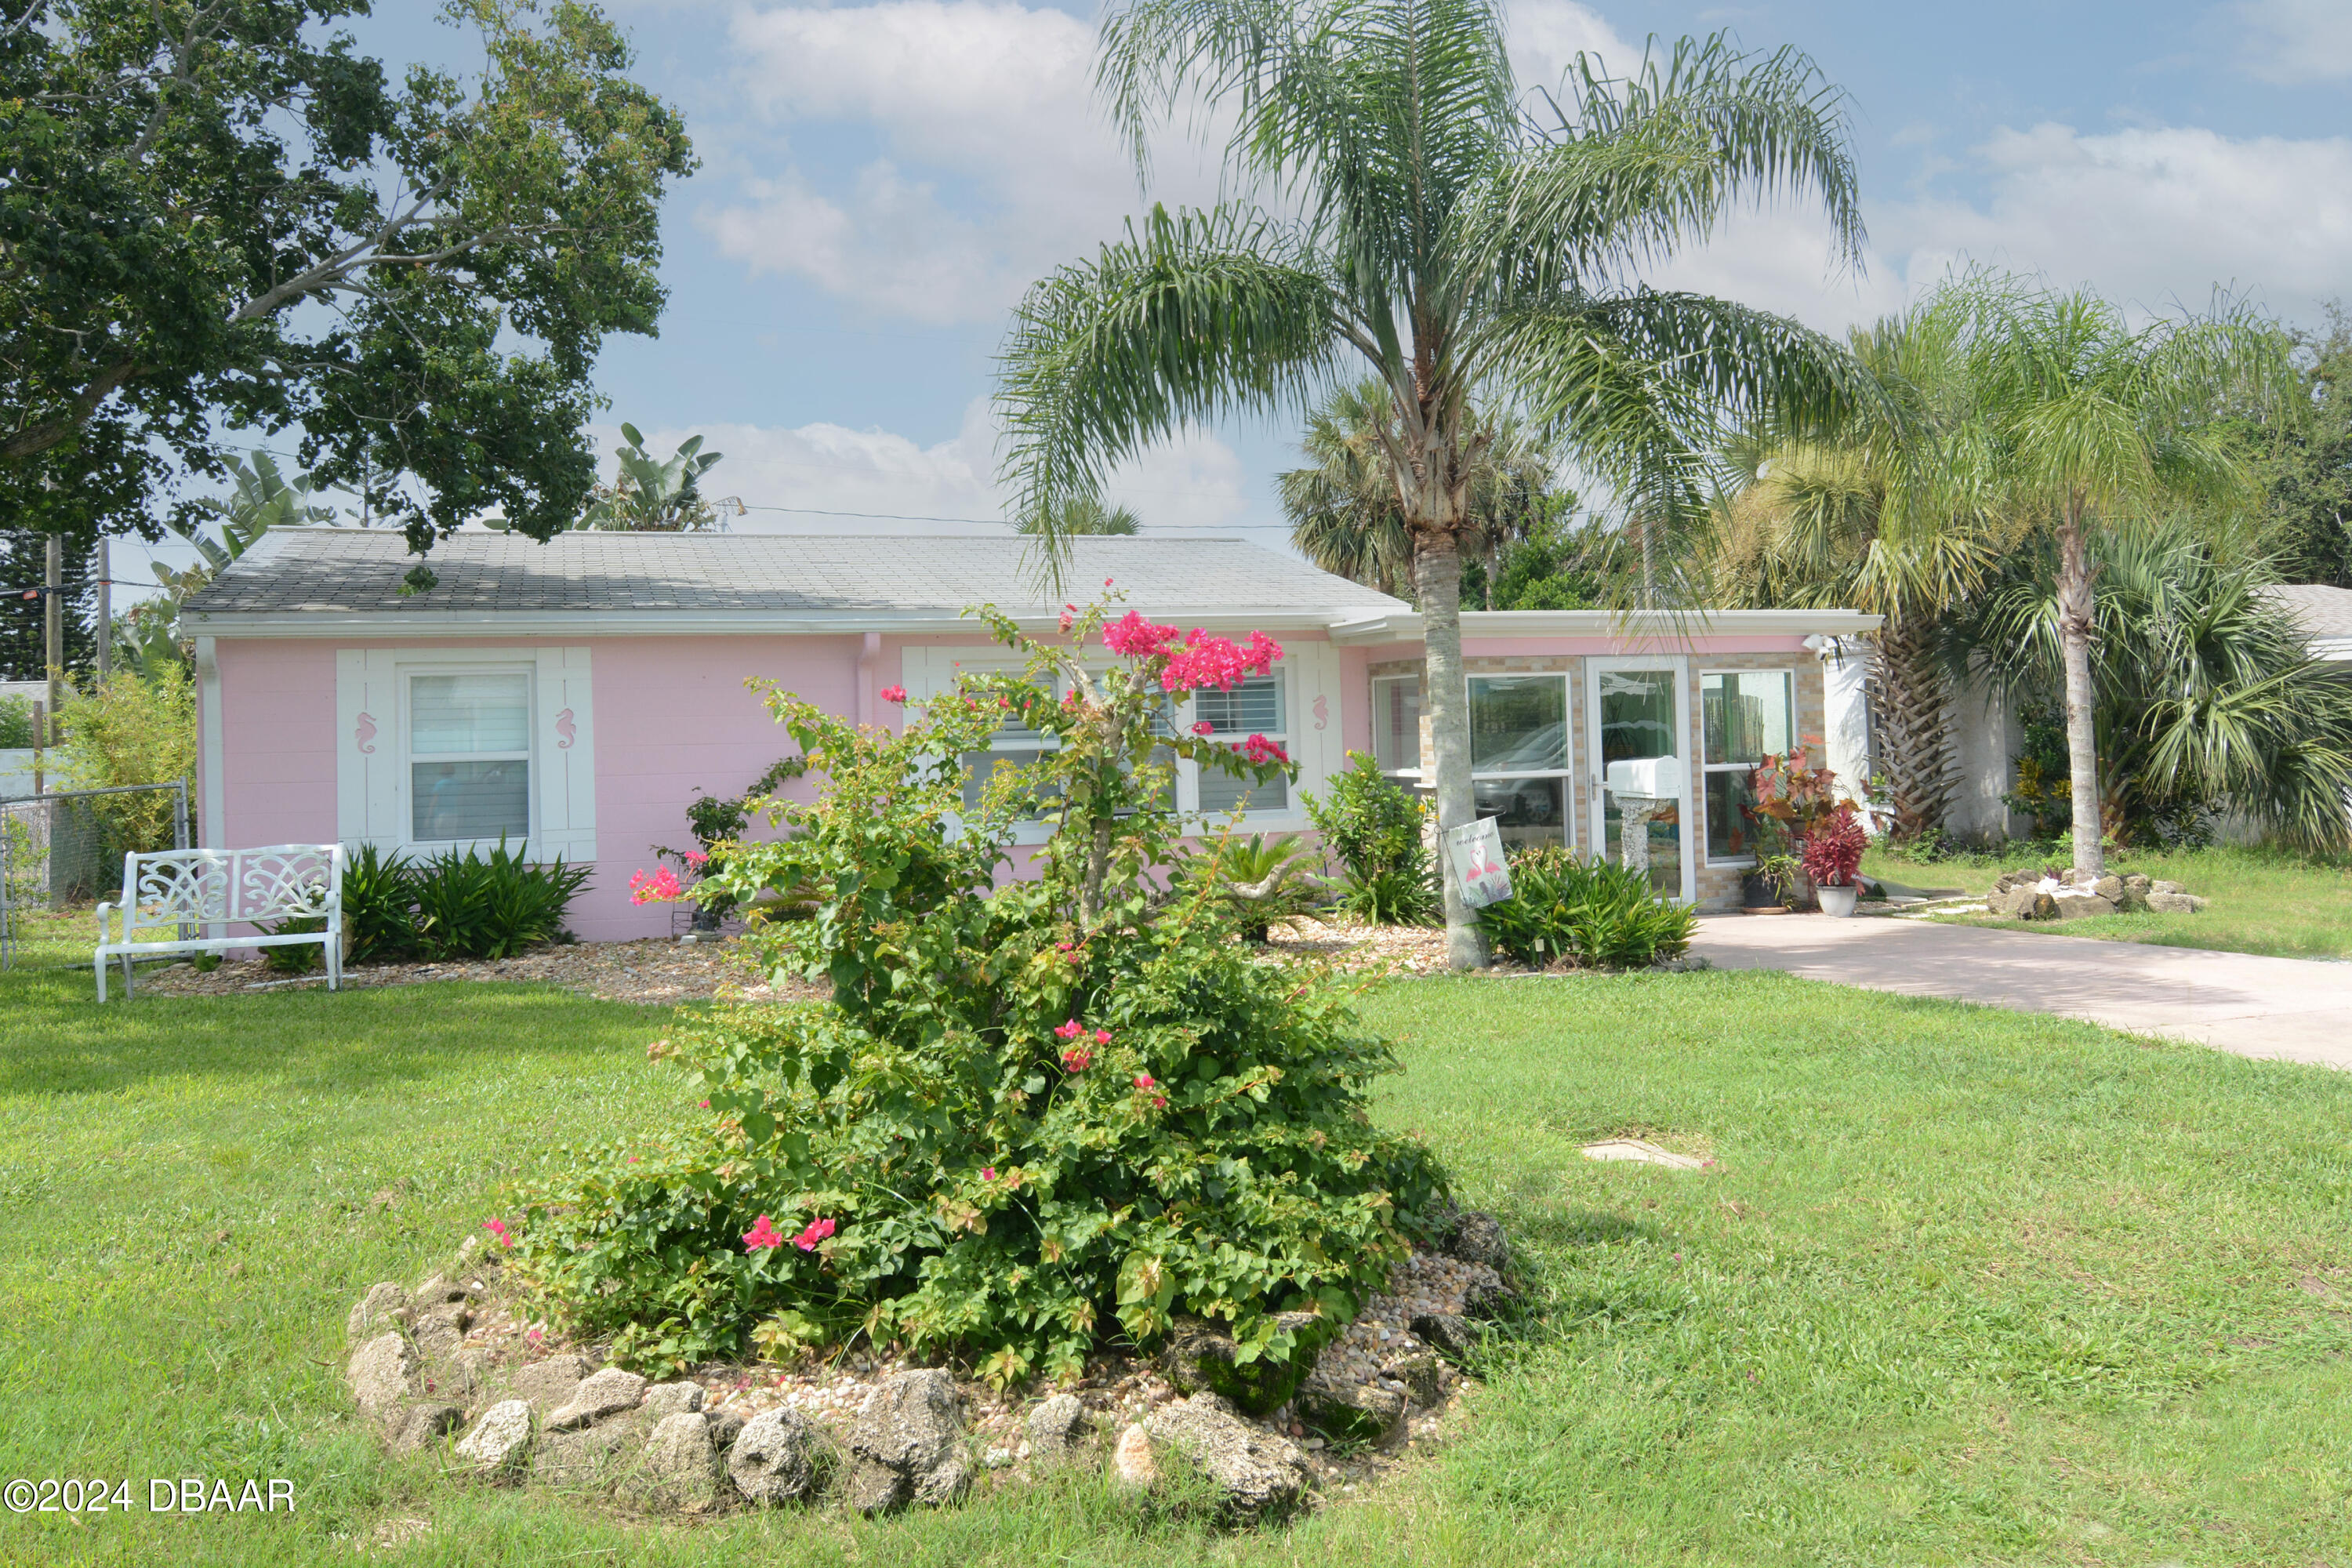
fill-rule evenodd
<path id="1" fill-rule="evenodd" d="M 715 879 L 746 905 L 818 889 L 814 922 L 753 940 L 833 1001 L 680 1027 L 659 1053 L 694 1074 L 684 1124 L 529 1197 L 513 1258 L 560 1319 L 644 1366 L 866 1335 L 1016 1382 L 1181 1314 L 1282 1363 L 1385 1288 L 1442 1197 L 1367 1114 L 1388 1046 L 1237 943 L 1214 879 L 1174 875 L 1202 830 L 1169 806 L 1178 757 L 1289 766 L 1195 731 L 1183 698 L 1282 651 L 1105 618 L 1035 642 L 990 614 L 1025 670 L 901 733 L 769 693 L 823 788 L 771 804 L 783 835 Z M 1049 745 L 974 806 L 962 757 L 1004 724 Z M 1021 818 L 1054 835 L 1000 884 Z"/>

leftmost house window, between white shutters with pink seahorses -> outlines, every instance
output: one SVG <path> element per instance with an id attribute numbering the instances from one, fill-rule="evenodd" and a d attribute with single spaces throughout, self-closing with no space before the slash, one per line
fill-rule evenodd
<path id="1" fill-rule="evenodd" d="M 532 837 L 532 672 L 407 677 L 409 839 Z"/>

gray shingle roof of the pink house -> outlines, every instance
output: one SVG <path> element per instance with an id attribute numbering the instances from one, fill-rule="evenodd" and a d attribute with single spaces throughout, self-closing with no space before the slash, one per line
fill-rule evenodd
<path id="1" fill-rule="evenodd" d="M 440 585 L 400 595 L 414 564 L 397 534 L 273 529 L 221 571 L 186 611 L 205 616 L 299 614 L 955 614 L 997 604 L 1051 614 L 1058 604 L 1023 559 L 1025 538 L 910 534 L 459 534 L 433 550 Z M 1261 611 L 1287 621 L 1376 616 L 1404 609 L 1235 538 L 1077 538 L 1070 597 L 1112 578 L 1138 609 Z"/>

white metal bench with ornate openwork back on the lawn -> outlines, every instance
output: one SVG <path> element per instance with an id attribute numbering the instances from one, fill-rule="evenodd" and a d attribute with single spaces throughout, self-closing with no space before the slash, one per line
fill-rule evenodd
<path id="1" fill-rule="evenodd" d="M 261 926 L 325 919 L 325 931 L 285 936 L 226 936 L 219 926 Z M 188 936 L 188 929 L 202 936 Z M 141 933 L 174 931 L 167 940 Z M 343 985 L 343 846 L 270 844 L 268 849 L 167 849 L 122 856 L 122 903 L 99 905 L 99 1001 L 106 1001 L 106 961 L 122 959 L 122 994 L 132 994 L 132 959 L 169 952 L 228 952 L 230 947 L 294 947 L 318 943 L 327 957 L 327 990 Z"/>

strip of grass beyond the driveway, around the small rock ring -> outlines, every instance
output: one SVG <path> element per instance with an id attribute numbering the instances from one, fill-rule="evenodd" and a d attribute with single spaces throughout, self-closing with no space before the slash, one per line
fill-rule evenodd
<path id="1" fill-rule="evenodd" d="M 1863 870 L 1910 886 L 1992 889 L 2004 863 L 1917 863 L 1884 851 L 1863 856 Z M 2284 959 L 2352 959 L 2352 865 L 2307 860 L 2267 849 L 2124 851 L 2107 860 L 2114 872 L 2147 872 L 2204 893 L 2213 907 L 2197 914 L 2093 914 L 2089 919 L 2002 919 L 1994 914 L 1940 914 L 1938 919 L 2049 936 L 2096 936 L 2110 943 L 2159 947 L 2218 947 L 2223 952 L 2270 952 Z"/>

